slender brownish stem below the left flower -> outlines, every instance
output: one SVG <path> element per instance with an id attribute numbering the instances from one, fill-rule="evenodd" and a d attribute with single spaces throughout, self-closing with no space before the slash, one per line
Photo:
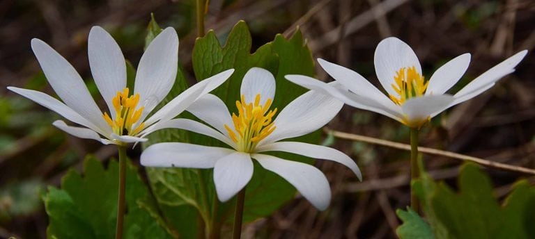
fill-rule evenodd
<path id="1" fill-rule="evenodd" d="M 125 186 L 126 186 L 126 147 L 118 146 L 119 150 L 119 197 L 117 200 L 117 224 L 115 238 L 123 238 L 123 220 L 125 218 Z"/>

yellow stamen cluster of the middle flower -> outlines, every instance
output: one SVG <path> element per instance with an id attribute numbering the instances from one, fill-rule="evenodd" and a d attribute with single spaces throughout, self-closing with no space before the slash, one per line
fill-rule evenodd
<path id="1" fill-rule="evenodd" d="M 247 104 L 245 95 L 242 94 L 241 101 L 236 101 L 238 115 L 232 113 L 234 130 L 225 124 L 225 129 L 232 141 L 238 145 L 238 151 L 251 153 L 260 140 L 270 135 L 275 130 L 272 117 L 277 113 L 277 108 L 270 109 L 272 100 L 267 99 L 265 104 L 260 104 L 260 94 L 256 94 L 254 103 Z"/>

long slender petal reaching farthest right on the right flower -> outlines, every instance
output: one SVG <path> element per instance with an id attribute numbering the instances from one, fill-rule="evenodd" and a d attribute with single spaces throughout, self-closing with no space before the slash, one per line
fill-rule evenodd
<path id="1" fill-rule="evenodd" d="M 463 101 L 475 97 L 475 95 L 470 98 L 465 98 L 464 96 L 472 92 L 478 91 L 481 88 L 488 88 L 488 85 L 493 84 L 502 77 L 506 76 L 507 74 L 514 72 L 516 65 L 520 63 L 520 61 L 526 56 L 526 54 L 527 50 L 520 51 L 515 55 L 511 56 L 510 58 L 507 58 L 506 60 L 502 61 L 502 63 L 495 65 L 495 67 L 488 69 L 488 71 L 478 76 L 476 79 L 474 79 L 474 81 L 468 83 L 468 85 L 466 85 L 463 89 L 459 90 L 459 92 L 457 92 L 457 94 L 455 94 L 454 96 L 456 98 L 463 97 Z M 462 101 L 457 102 L 457 104 L 460 102 Z"/>

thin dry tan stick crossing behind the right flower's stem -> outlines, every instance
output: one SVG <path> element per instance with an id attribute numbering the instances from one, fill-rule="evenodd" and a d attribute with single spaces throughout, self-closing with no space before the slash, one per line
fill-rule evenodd
<path id="1" fill-rule="evenodd" d="M 387 147 L 391 147 L 391 148 L 395 148 L 395 149 L 403 149 L 403 150 L 410 151 L 410 145 L 405 145 L 405 144 L 402 144 L 400 142 L 391 142 L 391 141 L 388 141 L 388 140 L 380 140 L 378 138 L 372 138 L 372 137 L 367 137 L 367 136 L 363 136 L 363 135 L 356 135 L 356 134 L 352 134 L 352 133 L 345 133 L 345 132 L 341 132 L 341 131 L 333 131 L 333 130 L 330 130 L 330 129 L 325 129 L 325 132 L 332 134 L 336 138 L 342 138 L 342 139 L 346 139 L 346 140 L 356 140 L 356 141 L 361 141 L 361 142 L 368 142 L 368 143 L 371 143 L 371 144 L 374 144 L 374 145 L 383 145 L 383 146 L 387 146 Z M 448 158 L 455 158 L 455 159 L 458 159 L 458 160 L 470 161 L 470 162 L 478 163 L 479 165 L 483 165 L 483 166 L 486 166 L 486 167 L 495 167 L 495 168 L 500 169 L 500 170 L 509 170 L 511 172 L 521 172 L 521 173 L 524 173 L 524 174 L 535 175 L 535 170 L 529 169 L 527 167 L 508 165 L 508 164 L 505 164 L 505 163 L 497 163 L 497 162 L 493 162 L 493 161 L 489 161 L 489 160 L 484 160 L 483 158 L 476 158 L 476 157 L 467 156 L 467 155 L 464 155 L 464 154 L 457 154 L 457 153 L 453 153 L 453 152 L 450 152 L 450 151 L 444 151 L 444 150 L 440 150 L 440 149 L 431 149 L 431 148 L 427 148 L 427 147 L 418 147 L 418 151 L 420 151 L 421 153 L 424 153 L 424 154 L 433 154 L 433 155 L 439 155 L 439 156 L 444 156 L 444 157 L 448 157 Z"/>

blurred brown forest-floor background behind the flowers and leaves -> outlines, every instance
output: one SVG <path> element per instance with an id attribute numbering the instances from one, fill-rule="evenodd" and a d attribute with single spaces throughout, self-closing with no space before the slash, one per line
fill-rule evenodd
<path id="1" fill-rule="evenodd" d="M 45 238 L 47 215 L 40 194 L 59 186 L 70 167 L 82 168 L 86 154 L 107 160 L 112 146 L 82 140 L 55 129 L 59 116 L 6 90 L 13 85 L 54 95 L 30 48 L 40 38 L 59 51 L 84 78 L 90 78 L 86 40 L 91 26 L 106 28 L 125 58 L 137 65 L 146 26 L 154 13 L 160 26 L 173 26 L 180 37 L 179 56 L 193 83 L 191 52 L 197 36 L 195 3 L 165 0 L 2 0 L 0 1 L 0 238 Z M 253 35 L 253 51 L 277 33 L 289 36 L 296 26 L 314 58 L 355 69 L 379 85 L 373 52 L 394 35 L 416 51 L 428 79 L 461 53 L 472 63 L 456 92 L 474 77 L 522 49 L 535 46 L 535 2 L 529 0 L 211 0 L 206 29 L 221 42 L 239 19 Z M 331 81 L 320 67 L 318 79 Z M 535 167 L 535 57 L 529 53 L 514 74 L 465 104 L 456 106 L 422 129 L 421 145 L 512 165 Z M 90 91 L 100 99 L 93 81 Z M 99 102 L 104 106 L 104 102 Z M 408 142 L 408 129 L 394 120 L 344 106 L 329 129 Z M 329 209 L 319 212 L 297 196 L 271 217 L 247 225 L 256 238 L 395 238 L 396 208 L 409 204 L 409 154 L 398 149 L 341 140 L 325 133 L 324 144 L 357 160 L 364 181 L 342 165 L 318 162 L 332 187 Z M 139 163 L 139 147 L 128 152 Z M 424 156 L 435 179 L 455 186 L 460 162 Z M 141 169 L 142 170 L 142 169 Z M 495 195 L 502 198 L 513 172 L 487 169 Z M 534 183 L 535 178 L 527 177 Z"/>

